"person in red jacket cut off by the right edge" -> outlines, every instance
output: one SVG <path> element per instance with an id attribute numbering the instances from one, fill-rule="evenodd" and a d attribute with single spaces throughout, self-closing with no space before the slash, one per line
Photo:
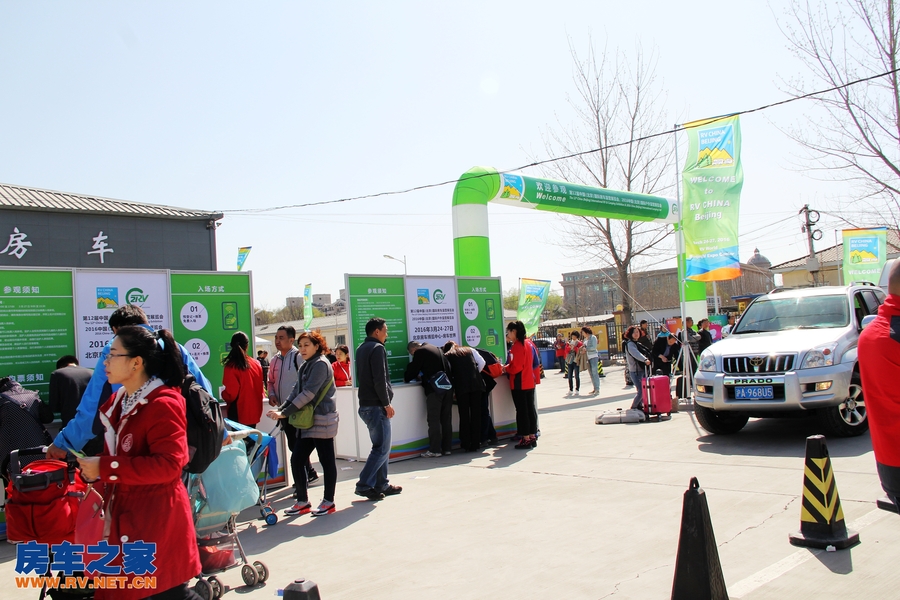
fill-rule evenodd
<path id="1" fill-rule="evenodd" d="M 878 478 L 900 506 L 900 261 L 891 267 L 887 300 L 859 335 L 857 356 Z M 858 410 L 862 394 L 849 401 Z"/>

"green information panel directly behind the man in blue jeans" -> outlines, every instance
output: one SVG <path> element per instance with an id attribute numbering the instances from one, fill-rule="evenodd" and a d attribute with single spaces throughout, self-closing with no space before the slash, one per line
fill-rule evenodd
<path id="1" fill-rule="evenodd" d="M 391 381 L 402 382 L 403 372 L 409 364 L 403 278 L 348 276 L 347 298 L 350 303 L 350 335 L 354 346 L 350 352 L 354 352 L 355 347 L 366 339 L 366 323 L 369 319 L 384 319 L 388 326 L 388 339 L 384 346 Z M 355 374 L 353 379 L 356 381 Z"/>

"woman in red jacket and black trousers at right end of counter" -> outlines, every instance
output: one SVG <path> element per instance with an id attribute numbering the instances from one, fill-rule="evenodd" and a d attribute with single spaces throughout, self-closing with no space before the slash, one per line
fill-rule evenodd
<path id="1" fill-rule="evenodd" d="M 525 324 L 513 321 L 506 326 L 506 341 L 512 344 L 503 372 L 516 405 L 516 430 L 522 437 L 516 448 L 537 447 L 537 408 L 534 405 L 534 345 L 525 337 Z M 540 375 L 538 375 L 540 377 Z"/>

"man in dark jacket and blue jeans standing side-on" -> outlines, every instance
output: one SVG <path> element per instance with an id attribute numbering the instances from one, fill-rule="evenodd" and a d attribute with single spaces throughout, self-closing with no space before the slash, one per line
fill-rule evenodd
<path id="1" fill-rule="evenodd" d="M 403 491 L 388 482 L 388 459 L 391 456 L 391 419 L 394 390 L 387 366 L 387 323 L 378 317 L 366 323 L 366 340 L 356 349 L 356 379 L 359 386 L 359 417 L 369 430 L 372 450 L 356 482 L 356 495 L 381 500 Z"/>

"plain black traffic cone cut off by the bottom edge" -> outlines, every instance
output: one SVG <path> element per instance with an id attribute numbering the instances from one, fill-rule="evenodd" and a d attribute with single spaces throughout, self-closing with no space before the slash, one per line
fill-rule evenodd
<path id="1" fill-rule="evenodd" d="M 728 600 L 706 492 L 696 477 L 684 493 L 672 600 Z"/>

